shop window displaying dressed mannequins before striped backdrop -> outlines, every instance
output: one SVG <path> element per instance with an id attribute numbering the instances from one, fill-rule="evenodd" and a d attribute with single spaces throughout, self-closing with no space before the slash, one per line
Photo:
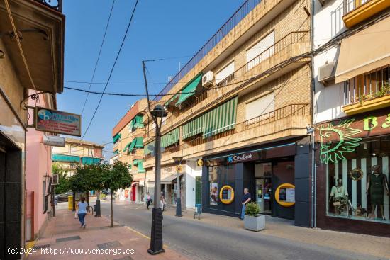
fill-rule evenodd
<path id="1" fill-rule="evenodd" d="M 390 136 L 363 138 L 353 149 L 337 145 L 326 144 L 337 153 L 325 155 L 327 215 L 390 224 Z"/>

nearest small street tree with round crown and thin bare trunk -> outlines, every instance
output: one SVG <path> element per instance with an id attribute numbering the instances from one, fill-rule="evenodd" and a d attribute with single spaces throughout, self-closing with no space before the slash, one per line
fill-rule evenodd
<path id="1" fill-rule="evenodd" d="M 133 176 L 128 171 L 128 164 L 117 160 L 113 164 L 108 165 L 102 179 L 104 188 L 109 188 L 111 191 L 110 227 L 113 227 L 113 191 L 117 191 L 118 188 L 128 188 L 133 181 Z"/>

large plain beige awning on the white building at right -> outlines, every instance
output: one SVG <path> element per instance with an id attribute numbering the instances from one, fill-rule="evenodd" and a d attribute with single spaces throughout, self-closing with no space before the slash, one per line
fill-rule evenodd
<path id="1" fill-rule="evenodd" d="M 335 83 L 390 64 L 390 17 L 342 40 Z"/>

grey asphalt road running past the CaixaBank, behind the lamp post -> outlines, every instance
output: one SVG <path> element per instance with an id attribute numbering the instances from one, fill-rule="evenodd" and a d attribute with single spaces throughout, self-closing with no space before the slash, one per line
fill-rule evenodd
<path id="1" fill-rule="evenodd" d="M 102 203 L 102 216 L 109 216 L 109 203 Z M 113 219 L 148 237 L 152 210 L 129 205 L 115 205 Z M 262 235 L 204 222 L 165 215 L 162 225 L 164 243 L 189 259 L 379 259 L 329 247 L 294 242 L 289 239 Z"/>

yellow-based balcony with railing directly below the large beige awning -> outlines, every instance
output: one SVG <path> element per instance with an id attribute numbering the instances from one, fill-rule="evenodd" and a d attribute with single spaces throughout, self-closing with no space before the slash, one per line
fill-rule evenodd
<path id="1" fill-rule="evenodd" d="M 342 111 L 355 115 L 390 106 L 390 65 L 344 82 Z"/>

